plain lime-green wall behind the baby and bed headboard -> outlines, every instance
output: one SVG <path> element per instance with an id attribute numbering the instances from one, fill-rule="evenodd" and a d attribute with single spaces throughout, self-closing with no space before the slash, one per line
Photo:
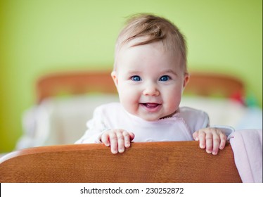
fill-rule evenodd
<path id="1" fill-rule="evenodd" d="M 179 26 L 190 70 L 240 77 L 262 106 L 262 0 L 0 0 L 0 152 L 22 134 L 37 77 L 111 68 L 124 18 L 139 12 Z"/>

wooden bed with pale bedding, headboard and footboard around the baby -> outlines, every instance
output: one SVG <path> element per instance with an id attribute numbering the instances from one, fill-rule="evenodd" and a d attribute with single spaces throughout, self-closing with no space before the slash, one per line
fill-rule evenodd
<path id="1" fill-rule="evenodd" d="M 36 91 L 35 105 L 23 114 L 24 134 L 16 151 L 0 159 L 1 182 L 262 182 L 262 176 L 253 175 L 262 169 L 262 110 L 255 115 L 259 120 L 244 126 L 251 109 L 244 103 L 243 82 L 235 77 L 193 72 L 181 101 L 207 111 L 211 125 L 242 130 L 216 156 L 196 141 L 133 143 L 117 155 L 101 144 L 73 145 L 96 106 L 118 101 L 110 71 L 51 73 L 37 80 Z M 261 154 L 261 163 L 260 156 L 243 157 L 233 148 L 251 128 L 253 135 L 245 138 L 258 141 L 250 149 Z M 242 155 L 238 161 L 235 154 Z M 256 172 L 244 169 L 244 160 L 256 163 Z"/>

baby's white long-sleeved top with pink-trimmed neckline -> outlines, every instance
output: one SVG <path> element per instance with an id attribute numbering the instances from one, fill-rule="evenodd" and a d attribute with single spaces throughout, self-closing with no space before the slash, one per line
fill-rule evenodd
<path id="1" fill-rule="evenodd" d="M 87 122 L 88 130 L 76 144 L 101 143 L 101 134 L 108 129 L 133 132 L 138 141 L 192 141 L 193 132 L 209 127 L 209 117 L 202 110 L 182 107 L 172 117 L 146 121 L 131 115 L 120 103 L 108 103 L 94 110 Z"/>

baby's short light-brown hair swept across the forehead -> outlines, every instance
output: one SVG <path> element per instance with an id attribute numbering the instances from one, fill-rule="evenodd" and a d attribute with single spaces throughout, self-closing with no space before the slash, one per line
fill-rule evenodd
<path id="1" fill-rule="evenodd" d="M 122 46 L 139 37 L 143 37 L 143 39 L 132 46 L 162 41 L 166 50 L 174 50 L 176 55 L 181 55 L 181 66 L 184 68 L 184 72 L 187 73 L 187 48 L 184 35 L 181 34 L 179 28 L 169 20 L 145 13 L 136 14 L 129 18 L 129 20 L 127 20 L 127 25 L 117 37 L 114 69 L 116 69 L 117 56 Z"/>

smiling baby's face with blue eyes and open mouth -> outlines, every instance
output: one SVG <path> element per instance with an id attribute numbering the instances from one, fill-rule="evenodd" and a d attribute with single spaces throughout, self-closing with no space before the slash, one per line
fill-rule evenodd
<path id="1" fill-rule="evenodd" d="M 180 57 L 162 42 L 123 46 L 112 77 L 125 110 L 147 121 L 172 116 L 188 80 Z"/>

